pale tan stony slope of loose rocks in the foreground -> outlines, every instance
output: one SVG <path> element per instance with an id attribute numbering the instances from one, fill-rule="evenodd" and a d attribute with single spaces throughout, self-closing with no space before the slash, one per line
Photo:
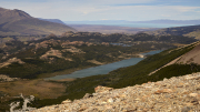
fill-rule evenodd
<path id="1" fill-rule="evenodd" d="M 200 112 L 200 73 L 112 89 L 97 86 L 80 100 L 32 112 Z"/>

